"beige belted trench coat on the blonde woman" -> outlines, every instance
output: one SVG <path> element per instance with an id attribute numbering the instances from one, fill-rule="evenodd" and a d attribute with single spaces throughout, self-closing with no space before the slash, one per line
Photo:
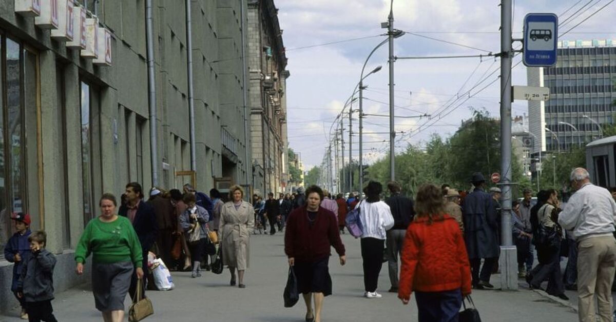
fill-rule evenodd
<path id="1" fill-rule="evenodd" d="M 253 206 L 242 201 L 235 209 L 232 201 L 222 205 L 219 233 L 222 238 L 222 262 L 238 270 L 248 268 L 250 231 L 254 227 Z"/>

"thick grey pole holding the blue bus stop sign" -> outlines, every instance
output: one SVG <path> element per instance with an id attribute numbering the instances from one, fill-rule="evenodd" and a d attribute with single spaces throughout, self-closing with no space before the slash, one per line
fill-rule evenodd
<path id="1" fill-rule="evenodd" d="M 501 0 L 501 289 L 517 290 L 516 246 L 511 236 L 511 0 Z"/>

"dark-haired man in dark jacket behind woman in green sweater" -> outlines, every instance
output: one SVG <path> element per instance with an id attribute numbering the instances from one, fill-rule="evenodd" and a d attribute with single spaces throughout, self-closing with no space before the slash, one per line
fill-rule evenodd
<path id="1" fill-rule="evenodd" d="M 118 215 L 127 217 L 131 220 L 132 227 L 135 228 L 139 243 L 141 243 L 141 250 L 143 252 L 142 267 L 148 267 L 148 252 L 156 241 L 158 236 L 158 223 L 156 223 L 156 214 L 154 209 L 149 204 L 142 201 L 144 193 L 141 185 L 137 182 L 129 182 L 126 185 L 126 205 L 120 207 Z M 131 288 L 129 288 L 129 294 L 131 298 L 135 296 L 135 290 L 137 287 L 137 273 L 132 274 Z M 145 289 L 142 294 L 145 296 Z"/>

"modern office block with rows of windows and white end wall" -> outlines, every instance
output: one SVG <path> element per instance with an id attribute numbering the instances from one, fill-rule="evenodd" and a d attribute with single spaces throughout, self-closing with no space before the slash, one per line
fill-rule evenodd
<path id="1" fill-rule="evenodd" d="M 614 41 L 559 41 L 556 66 L 527 68 L 529 86 L 549 87 L 546 102 L 529 102 L 533 153 L 565 151 L 601 135 L 614 124 L 616 47 Z"/>

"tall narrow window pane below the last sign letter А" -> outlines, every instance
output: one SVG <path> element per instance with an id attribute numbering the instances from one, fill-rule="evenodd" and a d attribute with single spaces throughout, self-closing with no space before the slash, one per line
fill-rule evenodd
<path id="1" fill-rule="evenodd" d="M 92 133 L 90 118 L 90 86 L 81 82 L 81 179 L 83 182 L 84 224 L 94 217 L 92 206 Z"/>

